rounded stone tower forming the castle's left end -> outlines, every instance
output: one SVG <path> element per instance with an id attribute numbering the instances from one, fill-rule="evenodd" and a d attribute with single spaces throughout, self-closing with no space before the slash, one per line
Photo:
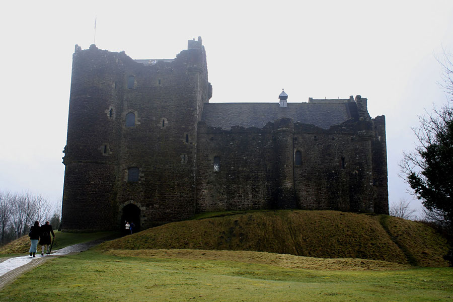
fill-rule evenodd
<path id="1" fill-rule="evenodd" d="M 122 79 L 118 53 L 89 50 L 73 55 L 62 221 L 64 228 L 110 229 L 115 219 Z M 112 111 L 110 111 L 112 109 Z"/>

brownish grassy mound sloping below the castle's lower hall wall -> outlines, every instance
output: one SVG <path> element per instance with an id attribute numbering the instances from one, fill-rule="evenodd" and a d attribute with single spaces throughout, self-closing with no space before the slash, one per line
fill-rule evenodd
<path id="1" fill-rule="evenodd" d="M 385 217 L 385 218 L 383 218 Z M 447 266 L 446 240 L 429 226 L 338 211 L 254 211 L 169 223 L 98 249 L 243 250 Z"/>

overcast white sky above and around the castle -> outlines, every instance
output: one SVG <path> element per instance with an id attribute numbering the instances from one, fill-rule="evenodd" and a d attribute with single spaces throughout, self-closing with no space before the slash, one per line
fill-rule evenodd
<path id="1" fill-rule="evenodd" d="M 211 102 L 368 98 L 386 115 L 389 201 L 410 127 L 445 103 L 436 56 L 453 50 L 453 1 L 8 1 L 0 12 L 0 190 L 61 200 L 74 44 L 174 58 L 206 48 Z M 417 200 L 412 201 L 418 207 Z"/>

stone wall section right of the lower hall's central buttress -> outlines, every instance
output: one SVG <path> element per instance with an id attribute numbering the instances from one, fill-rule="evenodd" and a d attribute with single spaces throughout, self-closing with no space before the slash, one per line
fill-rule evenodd
<path id="1" fill-rule="evenodd" d="M 373 212 L 371 127 L 353 122 L 322 130 L 309 125 L 294 129 L 294 166 L 299 208 Z M 361 129 L 368 130 L 361 130 Z"/>

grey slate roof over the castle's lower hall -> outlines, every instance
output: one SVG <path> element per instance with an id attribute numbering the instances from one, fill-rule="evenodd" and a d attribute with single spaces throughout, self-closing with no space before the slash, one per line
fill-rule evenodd
<path id="1" fill-rule="evenodd" d="M 232 126 L 263 128 L 268 122 L 290 118 L 294 122 L 329 129 L 356 116 L 356 103 L 205 103 L 201 120 L 207 126 L 229 130 Z M 352 114 L 351 114 L 352 112 Z"/>

